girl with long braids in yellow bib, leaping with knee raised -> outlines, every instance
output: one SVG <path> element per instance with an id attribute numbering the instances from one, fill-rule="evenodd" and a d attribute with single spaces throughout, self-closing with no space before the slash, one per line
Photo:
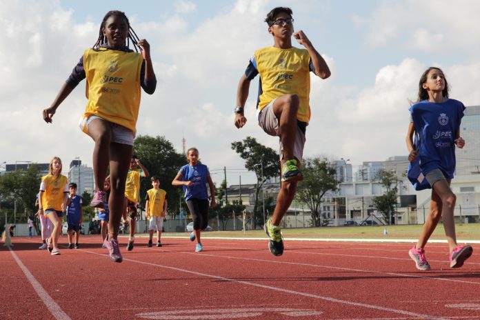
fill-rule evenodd
<path id="1" fill-rule="evenodd" d="M 130 41 L 141 53 L 130 50 Z M 43 119 L 47 123 L 52 122 L 60 103 L 83 79 L 87 79 L 88 103 L 81 129 L 95 142 L 95 190 L 90 206 L 104 207 L 103 181 L 110 166 L 110 237 L 104 244 L 110 258 L 121 262 L 117 235 L 140 106 L 140 88 L 152 94 L 157 86 L 150 59 L 150 44 L 145 39 L 137 39 L 125 13 L 109 11 L 103 17 L 97 43 L 92 49 L 85 50 L 50 108 L 43 110 Z"/>

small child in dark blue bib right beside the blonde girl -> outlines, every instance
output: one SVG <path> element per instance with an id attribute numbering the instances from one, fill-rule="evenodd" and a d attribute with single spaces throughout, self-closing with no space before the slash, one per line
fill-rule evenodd
<path id="1" fill-rule="evenodd" d="M 83 221 L 83 199 L 77 194 L 77 183 L 68 185 L 70 196 L 67 200 L 67 232 L 68 232 L 68 248 L 79 248 L 79 237 L 81 230 L 81 222 Z M 75 245 L 72 243 L 73 232 L 75 232 Z"/>

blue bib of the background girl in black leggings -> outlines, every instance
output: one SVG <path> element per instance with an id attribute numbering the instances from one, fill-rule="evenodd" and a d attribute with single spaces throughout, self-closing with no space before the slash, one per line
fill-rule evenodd
<path id="1" fill-rule="evenodd" d="M 192 181 L 193 186 L 183 186 L 183 194 L 185 194 L 185 200 L 190 198 L 195 199 L 208 199 L 207 191 L 207 177 L 210 176 L 208 167 L 204 164 L 198 163 L 197 166 L 190 166 L 186 164 L 181 167 L 179 174 L 181 174 L 182 181 Z"/>

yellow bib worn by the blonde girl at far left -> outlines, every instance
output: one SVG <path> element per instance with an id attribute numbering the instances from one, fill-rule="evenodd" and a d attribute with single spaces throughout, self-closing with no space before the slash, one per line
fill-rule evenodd
<path id="1" fill-rule="evenodd" d="M 40 191 L 43 191 L 41 199 L 43 210 L 54 209 L 61 211 L 63 196 L 68 193 L 68 179 L 61 174 L 58 178 L 53 174 L 47 174 L 41 177 Z"/>

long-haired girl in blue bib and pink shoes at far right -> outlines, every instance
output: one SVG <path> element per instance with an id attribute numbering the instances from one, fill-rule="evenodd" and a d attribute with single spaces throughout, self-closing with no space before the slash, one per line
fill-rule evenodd
<path id="1" fill-rule="evenodd" d="M 418 101 L 410 108 L 412 121 L 406 137 L 408 160 L 413 162 L 419 157 L 421 172 L 432 188 L 430 213 L 419 241 L 408 252 L 419 270 L 430 270 L 424 247 L 441 218 L 450 247 L 450 268 L 460 268 L 472 255 L 471 246 L 457 244 L 454 223 L 457 197 L 450 188 L 455 170 L 455 146 L 465 146 L 459 130 L 463 110 L 463 103 L 448 98 L 448 82 L 442 70 L 428 68 L 423 72 Z M 419 138 L 416 148 L 414 134 Z"/>

